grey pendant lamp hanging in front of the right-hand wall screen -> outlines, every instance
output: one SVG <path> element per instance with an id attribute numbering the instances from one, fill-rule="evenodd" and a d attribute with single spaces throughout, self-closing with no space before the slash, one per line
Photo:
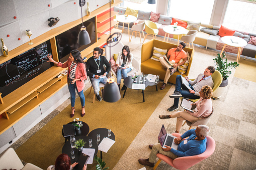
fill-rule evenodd
<path id="1" fill-rule="evenodd" d="M 86 4 L 86 0 L 79 0 L 79 6 L 81 7 L 81 15 L 82 15 L 82 7 L 85 4 Z M 81 18 L 82 18 L 82 16 L 81 16 Z M 90 36 L 89 36 L 88 32 L 86 31 L 86 27 L 83 26 L 83 22 L 82 22 L 82 27 L 78 34 L 78 44 L 87 45 L 90 43 L 91 43 Z"/>

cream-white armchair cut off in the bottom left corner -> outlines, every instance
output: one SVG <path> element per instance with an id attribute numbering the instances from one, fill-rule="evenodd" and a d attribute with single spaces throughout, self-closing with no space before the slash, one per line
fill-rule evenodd
<path id="1" fill-rule="evenodd" d="M 22 169 L 22 170 L 43 170 L 34 164 L 27 163 L 23 166 L 19 156 L 16 154 L 13 148 L 7 149 L 7 151 L 0 157 L 0 169 Z"/>

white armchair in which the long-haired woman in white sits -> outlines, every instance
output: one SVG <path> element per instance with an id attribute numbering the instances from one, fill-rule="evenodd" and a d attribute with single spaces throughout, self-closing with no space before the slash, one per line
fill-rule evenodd
<path id="1" fill-rule="evenodd" d="M 110 47 L 111 47 L 111 50 L 110 50 Z M 119 52 L 121 52 L 123 47 L 124 47 L 124 44 L 119 41 L 108 44 L 105 48 L 106 59 L 109 61 L 111 59 L 111 57 L 114 56 L 114 54 L 118 54 Z M 111 53 L 110 53 L 110 51 L 111 51 Z M 139 62 L 134 58 L 134 56 L 133 56 L 133 60 L 132 60 L 132 66 L 133 66 L 133 69 L 129 73 L 127 73 L 127 76 L 130 76 L 130 75 L 132 75 L 132 73 L 134 71 L 139 70 Z M 112 68 L 110 69 L 110 71 L 113 76 L 117 77 L 116 73 L 112 70 Z"/>

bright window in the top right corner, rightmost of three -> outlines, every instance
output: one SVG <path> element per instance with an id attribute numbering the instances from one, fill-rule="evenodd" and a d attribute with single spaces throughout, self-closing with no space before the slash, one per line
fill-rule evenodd
<path id="1" fill-rule="evenodd" d="M 229 0 L 222 25 L 229 29 L 256 34 L 255 9 L 254 3 Z"/>

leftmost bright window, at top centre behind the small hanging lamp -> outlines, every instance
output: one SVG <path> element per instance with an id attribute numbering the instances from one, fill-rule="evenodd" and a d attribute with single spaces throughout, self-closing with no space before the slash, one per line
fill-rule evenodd
<path id="1" fill-rule="evenodd" d="M 141 10 L 147 12 L 156 12 L 156 4 L 157 0 L 155 0 L 155 4 L 147 4 L 147 0 L 123 0 L 121 7 L 127 8 L 129 7 L 132 10 Z"/>

